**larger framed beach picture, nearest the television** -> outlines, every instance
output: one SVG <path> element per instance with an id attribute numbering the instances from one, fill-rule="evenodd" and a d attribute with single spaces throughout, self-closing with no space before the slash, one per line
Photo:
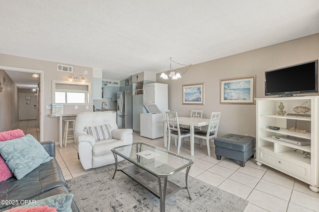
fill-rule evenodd
<path id="1" fill-rule="evenodd" d="M 255 104 L 255 78 L 254 75 L 220 79 L 220 103 Z"/>

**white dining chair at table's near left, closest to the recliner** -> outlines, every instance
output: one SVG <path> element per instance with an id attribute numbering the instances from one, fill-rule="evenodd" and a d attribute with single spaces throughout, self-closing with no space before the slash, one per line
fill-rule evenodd
<path id="1" fill-rule="evenodd" d="M 179 154 L 181 139 L 185 137 L 190 137 L 190 132 L 188 130 L 181 130 L 179 128 L 177 112 L 166 112 L 167 128 L 168 128 L 168 143 L 167 150 L 169 150 L 171 137 L 178 140 L 177 143 L 177 154 Z"/>

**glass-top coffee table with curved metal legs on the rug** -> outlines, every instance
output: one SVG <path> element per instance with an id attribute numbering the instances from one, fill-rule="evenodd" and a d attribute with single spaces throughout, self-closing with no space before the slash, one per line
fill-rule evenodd
<path id="1" fill-rule="evenodd" d="M 165 211 L 165 198 L 181 189 L 187 190 L 191 200 L 187 186 L 188 172 L 194 163 L 191 159 L 142 142 L 115 147 L 112 152 L 115 157 L 115 172 L 112 179 L 117 171 L 122 171 L 160 199 L 160 212 Z M 118 156 L 133 165 L 118 169 Z M 181 187 L 167 180 L 170 175 L 185 168 L 186 186 Z"/>

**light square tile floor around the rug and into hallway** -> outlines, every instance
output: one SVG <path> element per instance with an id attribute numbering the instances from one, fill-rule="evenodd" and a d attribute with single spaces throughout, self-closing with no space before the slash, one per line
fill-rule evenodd
<path id="1" fill-rule="evenodd" d="M 36 123 L 33 120 L 18 123 L 19 129 L 25 134 L 34 137 Z M 147 142 L 164 148 L 163 138 L 151 140 L 134 133 L 133 142 Z M 171 142 L 170 151 L 177 152 Z M 165 148 L 164 148 L 165 149 Z M 207 155 L 207 148 L 200 148 L 195 144 L 194 156 L 190 155 L 189 142 L 183 142 L 180 154 L 193 159 L 189 175 L 222 190 L 230 192 L 250 203 L 246 212 L 319 212 L 319 193 L 314 193 L 309 186 L 295 178 L 283 174 L 268 166 L 256 165 L 253 158 L 240 167 L 235 161 L 223 158 L 217 160 L 215 149 L 210 149 L 211 156 Z M 67 147 L 56 147 L 56 159 L 60 164 L 66 180 L 95 171 L 84 170 L 77 156 L 77 144 L 68 143 Z"/>

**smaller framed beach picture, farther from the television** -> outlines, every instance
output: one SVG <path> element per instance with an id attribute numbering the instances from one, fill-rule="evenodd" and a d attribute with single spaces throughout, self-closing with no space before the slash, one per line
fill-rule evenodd
<path id="1" fill-rule="evenodd" d="M 204 83 L 183 85 L 183 105 L 204 105 Z"/>

